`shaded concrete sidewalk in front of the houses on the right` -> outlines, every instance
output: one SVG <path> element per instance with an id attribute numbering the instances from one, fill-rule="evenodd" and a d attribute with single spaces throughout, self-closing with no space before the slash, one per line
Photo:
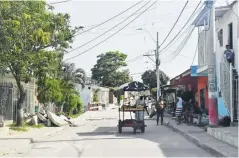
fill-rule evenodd
<path id="1" fill-rule="evenodd" d="M 183 123 L 177 125 L 176 121 L 170 117 L 164 118 L 164 124 L 213 155 L 219 157 L 238 157 L 237 148 L 208 135 L 203 128 Z"/>

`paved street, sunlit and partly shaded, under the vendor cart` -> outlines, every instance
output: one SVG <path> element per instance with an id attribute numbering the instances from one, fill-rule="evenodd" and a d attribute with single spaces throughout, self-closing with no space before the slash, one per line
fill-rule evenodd
<path id="1" fill-rule="evenodd" d="M 79 127 L 68 128 L 32 145 L 25 157 L 209 157 L 209 153 L 165 126 L 147 120 L 144 134 L 117 133 L 116 111 L 90 112 Z M 84 123 L 83 123 L 84 122 Z"/>

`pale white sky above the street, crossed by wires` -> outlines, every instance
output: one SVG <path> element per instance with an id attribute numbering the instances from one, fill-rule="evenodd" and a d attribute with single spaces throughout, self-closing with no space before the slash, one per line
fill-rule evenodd
<path id="1" fill-rule="evenodd" d="M 48 3 L 59 2 L 63 0 L 47 0 Z M 55 12 L 69 13 L 71 16 L 70 24 L 71 26 L 84 26 L 84 30 L 87 30 L 96 25 L 110 19 L 111 17 L 117 15 L 118 13 L 126 10 L 130 6 L 134 5 L 139 1 L 82 1 L 82 0 L 69 0 L 64 3 L 52 4 L 55 7 Z M 190 0 L 187 4 L 181 18 L 179 19 L 177 25 L 173 29 L 172 33 L 168 37 L 168 40 L 162 45 L 163 48 L 169 43 L 169 41 L 178 33 L 185 22 L 190 17 L 193 10 L 198 4 L 198 0 Z M 230 2 L 230 1 L 229 1 Z M 135 8 L 125 12 L 121 16 L 110 20 L 109 22 L 87 32 L 83 32 L 78 35 L 72 48 L 77 48 L 82 46 L 86 42 L 94 39 L 105 31 L 111 29 L 119 22 L 126 19 L 128 16 L 133 14 L 137 9 L 143 6 L 147 1 L 144 1 L 137 5 Z M 145 6 L 141 11 L 146 9 L 153 3 L 151 1 L 147 6 Z M 131 60 L 140 56 L 147 51 L 156 49 L 156 34 L 159 34 L 159 45 L 163 42 L 164 38 L 167 36 L 168 32 L 175 23 L 177 17 L 179 16 L 183 6 L 185 5 L 185 0 L 159 0 L 154 4 L 148 11 L 143 13 L 139 18 L 133 21 L 130 25 L 126 26 L 122 31 L 114 35 L 107 41 L 99 44 L 95 48 L 79 55 L 76 58 L 68 60 L 68 62 L 74 62 L 77 68 L 83 68 L 86 71 L 87 76 L 91 75 L 91 68 L 96 64 L 97 55 L 101 53 L 106 53 L 108 51 L 120 51 L 128 55 L 127 60 Z M 217 0 L 216 6 L 225 5 L 224 0 Z M 136 14 L 136 17 L 139 14 Z M 110 32 L 106 33 L 97 40 L 84 45 L 83 47 L 65 55 L 64 59 L 69 59 L 70 57 L 76 56 L 89 48 L 93 47 L 97 43 L 103 41 L 108 36 L 112 35 L 124 25 L 129 23 L 134 17 L 130 18 L 126 22 L 122 23 L 118 27 L 114 28 Z M 189 23 L 190 25 L 191 23 Z M 188 28 L 187 25 L 185 27 Z M 141 29 L 141 30 L 139 30 Z M 182 31 L 183 32 L 183 31 Z M 195 29 L 188 42 L 185 44 L 182 51 L 176 56 L 174 60 L 169 60 L 170 56 L 178 50 L 178 46 L 182 42 L 186 34 L 183 34 L 181 38 L 178 38 L 166 51 L 160 52 L 160 70 L 164 71 L 170 78 L 173 78 L 187 69 L 190 66 L 197 65 L 197 29 Z M 152 39 L 152 37 L 154 40 Z M 160 50 L 160 49 L 159 49 Z M 151 53 L 152 54 L 152 53 Z M 195 58 L 194 58 L 195 56 Z M 152 56 L 155 59 L 155 56 Z M 137 60 L 136 60 L 137 59 Z M 134 80 L 141 81 L 141 74 L 148 70 L 154 69 L 155 63 L 146 56 L 138 57 L 132 62 L 128 62 L 128 68 Z"/>

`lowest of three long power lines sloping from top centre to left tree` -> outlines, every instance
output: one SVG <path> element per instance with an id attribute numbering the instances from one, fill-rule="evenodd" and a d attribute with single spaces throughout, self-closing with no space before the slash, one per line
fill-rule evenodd
<path id="1" fill-rule="evenodd" d="M 84 52 L 82 52 L 82 53 L 80 53 L 80 54 L 78 54 L 78 55 L 75 55 L 75 56 L 73 56 L 73 57 L 71 57 L 71 58 L 69 58 L 69 59 L 66 59 L 65 61 L 68 61 L 68 60 L 71 60 L 71 59 L 73 59 L 73 58 L 76 58 L 76 57 L 78 57 L 78 56 L 80 56 L 80 55 L 82 55 L 82 54 L 84 54 L 84 53 L 90 51 L 91 49 L 97 47 L 97 46 L 100 45 L 101 43 L 107 41 L 108 39 L 110 39 L 111 37 L 113 37 L 114 35 L 116 35 L 117 33 L 119 33 L 121 30 L 123 30 L 125 27 L 127 27 L 128 25 L 130 25 L 132 22 L 134 22 L 138 17 L 140 17 L 145 11 L 147 11 L 147 10 L 148 10 L 150 7 L 152 7 L 155 3 L 156 3 L 156 1 L 153 2 L 153 4 L 151 4 L 151 5 L 150 5 L 148 8 L 146 8 L 144 11 L 142 11 L 141 14 L 139 14 L 138 16 L 136 16 L 133 20 L 131 20 L 129 23 L 127 23 L 125 26 L 123 26 L 121 29 L 119 29 L 118 31 L 116 31 L 116 32 L 115 32 L 114 34 L 112 34 L 111 36 L 107 37 L 106 39 L 104 39 L 103 41 L 97 43 L 96 45 L 90 47 L 89 49 L 85 50 Z"/>

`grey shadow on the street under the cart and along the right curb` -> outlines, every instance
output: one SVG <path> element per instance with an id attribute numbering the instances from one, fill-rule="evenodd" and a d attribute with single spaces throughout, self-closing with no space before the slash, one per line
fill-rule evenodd
<path id="1" fill-rule="evenodd" d="M 79 136 L 95 137 L 95 136 L 115 136 L 113 139 L 144 139 L 157 143 L 158 148 L 163 152 L 166 157 L 208 157 L 208 153 L 203 149 L 188 142 L 185 138 L 181 137 L 174 131 L 165 128 L 165 126 L 156 126 L 154 121 L 148 120 L 149 128 L 146 127 L 145 133 L 137 131 L 133 133 L 133 129 L 123 128 L 122 133 L 118 133 L 117 127 L 98 127 L 92 132 L 77 133 Z M 99 138 L 99 139 L 112 139 L 112 138 Z"/>

